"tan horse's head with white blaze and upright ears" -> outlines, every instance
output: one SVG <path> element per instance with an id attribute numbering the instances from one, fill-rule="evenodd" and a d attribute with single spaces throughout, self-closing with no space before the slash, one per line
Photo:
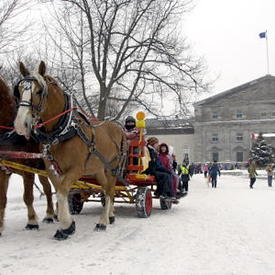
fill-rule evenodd
<path id="1" fill-rule="evenodd" d="M 48 85 L 45 80 L 46 65 L 41 61 L 38 73 L 30 74 L 25 65 L 20 62 L 20 72 L 23 76 L 14 89 L 14 96 L 19 101 L 19 109 L 14 122 L 19 135 L 30 137 L 34 117 L 39 117 L 44 111 Z"/>

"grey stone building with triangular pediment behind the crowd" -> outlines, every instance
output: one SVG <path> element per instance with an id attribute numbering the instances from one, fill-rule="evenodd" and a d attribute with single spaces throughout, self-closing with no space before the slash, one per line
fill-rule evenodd
<path id="1" fill-rule="evenodd" d="M 266 75 L 194 107 L 194 161 L 246 161 L 252 133 L 275 132 L 275 77 Z"/>

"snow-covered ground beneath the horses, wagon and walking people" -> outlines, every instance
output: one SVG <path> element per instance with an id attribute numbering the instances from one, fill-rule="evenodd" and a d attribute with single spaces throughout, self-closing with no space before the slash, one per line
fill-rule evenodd
<path id="1" fill-rule="evenodd" d="M 154 202 L 148 219 L 134 205 L 116 205 L 116 223 L 94 232 L 101 206 L 86 203 L 75 216 L 77 231 L 52 239 L 57 224 L 26 231 L 21 179 L 8 192 L 6 228 L 0 238 L 0 274 L 275 274 L 275 187 L 258 179 L 253 190 L 244 176 L 222 175 L 209 188 L 202 175 L 188 197 L 170 211 Z M 45 198 L 36 191 L 40 218 Z"/>

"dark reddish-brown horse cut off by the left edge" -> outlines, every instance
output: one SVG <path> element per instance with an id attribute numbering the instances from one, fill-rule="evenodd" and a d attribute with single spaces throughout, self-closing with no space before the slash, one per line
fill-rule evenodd
<path id="1" fill-rule="evenodd" d="M 13 126 L 13 121 L 16 116 L 16 103 L 9 87 L 1 77 L 0 106 L 0 150 L 39 152 L 38 143 L 34 143 L 33 140 L 27 141 L 24 137 L 17 135 L 15 132 L 12 133 L 11 130 L 4 129 L 4 127 L 8 128 Z M 42 160 L 16 160 L 16 162 L 40 169 L 45 167 Z M 25 228 L 29 230 L 39 228 L 37 216 L 33 208 L 34 175 L 24 171 L 6 168 L 0 165 L 0 235 L 2 234 L 4 228 L 8 181 L 12 173 L 21 175 L 24 181 L 24 202 L 28 209 L 28 223 Z M 51 185 L 48 179 L 45 177 L 39 176 L 39 180 L 43 185 L 44 193 L 47 197 L 46 217 L 43 221 L 50 223 L 53 222 L 54 215 Z"/>

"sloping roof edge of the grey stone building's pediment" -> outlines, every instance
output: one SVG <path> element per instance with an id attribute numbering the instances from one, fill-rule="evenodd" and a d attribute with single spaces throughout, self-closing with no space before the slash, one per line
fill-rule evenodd
<path id="1" fill-rule="evenodd" d="M 226 90 L 224 92 L 221 92 L 221 93 L 218 93 L 216 95 L 213 95 L 213 96 L 210 96 L 206 99 L 203 99 L 203 100 L 200 100 L 200 101 L 197 101 L 194 103 L 194 106 L 195 107 L 198 107 L 198 106 L 201 106 L 201 105 L 204 105 L 204 104 L 208 104 L 208 103 L 211 103 L 217 99 L 220 99 L 220 98 L 223 98 L 225 96 L 228 96 L 228 95 L 231 95 L 231 94 L 234 94 L 234 93 L 237 93 L 239 91 L 243 91 L 243 90 L 246 90 L 248 87 L 251 87 L 251 86 L 257 86 L 260 82 L 263 82 L 263 81 L 270 81 L 270 80 L 273 80 L 275 81 L 275 76 L 273 75 L 270 75 L 270 74 L 267 74 L 263 77 L 260 77 L 260 78 L 257 78 L 257 79 L 254 79 L 252 81 L 249 81 L 247 83 L 244 83 L 242 85 L 239 85 L 237 87 L 234 87 L 232 89 L 229 89 L 229 90 Z"/>

